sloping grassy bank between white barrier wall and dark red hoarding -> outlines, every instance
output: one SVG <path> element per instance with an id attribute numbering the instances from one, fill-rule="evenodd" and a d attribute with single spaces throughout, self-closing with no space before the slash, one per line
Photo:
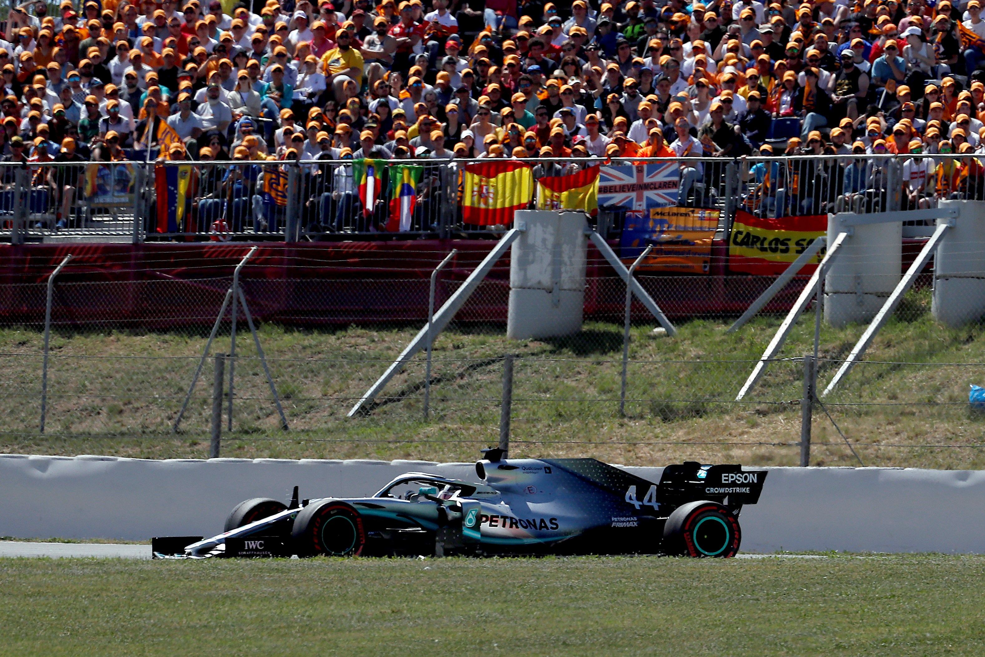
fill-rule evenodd
<path id="1" fill-rule="evenodd" d="M 906 296 L 868 361 L 824 398 L 866 465 L 985 467 L 985 419 L 967 405 L 968 384 L 985 383 L 982 327 L 942 327 L 929 306 L 929 291 Z M 232 431 L 224 433 L 223 456 L 472 460 L 497 439 L 498 359 L 514 353 L 522 357 L 514 374 L 512 414 L 518 455 L 582 455 L 638 465 L 686 459 L 795 465 L 801 363 L 770 364 L 752 394 L 734 402 L 779 321 L 759 317 L 728 334 L 728 320 L 694 320 L 681 323 L 674 339 L 654 337 L 652 324 L 634 325 L 625 417 L 619 413 L 621 325 L 590 322 L 569 338 L 512 341 L 501 325 L 453 324 L 434 346 L 427 421 L 421 358 L 394 377 L 371 413 L 346 418 L 417 325 L 330 330 L 264 325 L 260 339 L 291 430 L 279 428 L 246 333 L 237 344 L 235 416 Z M 821 358 L 832 361 L 821 361 L 821 386 L 861 331 L 860 326 L 822 327 Z M 215 352 L 230 349 L 228 334 L 223 335 Z M 0 329 L 5 373 L 0 396 L 8 401 L 0 452 L 207 456 L 211 362 L 180 432 L 171 432 L 206 337 L 192 330 L 56 333 L 46 427 L 40 434 L 41 333 Z M 813 322 L 806 318 L 781 356 L 803 355 L 813 337 Z M 922 364 L 893 364 L 900 361 Z M 815 465 L 858 464 L 820 411 L 812 454 Z"/>

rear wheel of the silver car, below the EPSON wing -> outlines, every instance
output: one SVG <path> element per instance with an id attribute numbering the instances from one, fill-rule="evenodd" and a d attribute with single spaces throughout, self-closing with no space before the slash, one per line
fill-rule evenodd
<path id="1" fill-rule="evenodd" d="M 685 557 L 729 558 L 739 553 L 739 519 L 713 501 L 679 506 L 664 525 L 664 552 Z"/>

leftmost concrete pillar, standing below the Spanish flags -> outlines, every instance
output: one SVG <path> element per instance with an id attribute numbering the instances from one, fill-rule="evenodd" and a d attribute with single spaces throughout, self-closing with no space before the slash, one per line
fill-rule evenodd
<path id="1" fill-rule="evenodd" d="M 521 210 L 509 264 L 506 336 L 552 338 L 581 330 L 585 302 L 585 216 L 577 212 Z"/>

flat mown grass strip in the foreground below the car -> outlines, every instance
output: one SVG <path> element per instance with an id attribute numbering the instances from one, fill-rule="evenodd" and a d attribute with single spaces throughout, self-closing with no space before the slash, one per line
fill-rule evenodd
<path id="1" fill-rule="evenodd" d="M 985 558 L 0 559 L 0 654 L 980 655 Z"/>

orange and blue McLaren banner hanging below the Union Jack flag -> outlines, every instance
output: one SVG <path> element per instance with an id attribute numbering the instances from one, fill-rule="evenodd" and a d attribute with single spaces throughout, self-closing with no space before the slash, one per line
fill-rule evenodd
<path id="1" fill-rule="evenodd" d="M 720 216 L 718 210 L 700 208 L 652 208 L 642 218 L 627 213 L 621 255 L 631 263 L 652 244 L 640 269 L 707 274 Z"/>

